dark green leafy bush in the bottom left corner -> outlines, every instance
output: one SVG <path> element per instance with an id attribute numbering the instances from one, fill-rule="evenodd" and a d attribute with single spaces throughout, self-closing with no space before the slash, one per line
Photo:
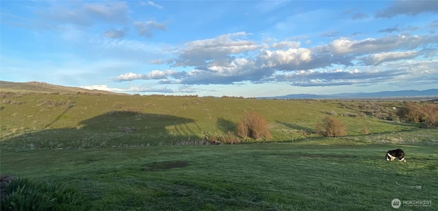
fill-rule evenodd
<path id="1" fill-rule="evenodd" d="M 85 210 L 83 196 L 72 188 L 19 178 L 5 189 L 1 210 Z"/>

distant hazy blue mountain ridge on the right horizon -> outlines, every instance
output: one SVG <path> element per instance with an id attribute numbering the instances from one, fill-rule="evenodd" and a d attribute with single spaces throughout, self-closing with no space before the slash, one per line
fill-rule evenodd
<path id="1" fill-rule="evenodd" d="M 438 88 L 428 90 L 400 90 L 400 91 L 384 91 L 384 92 L 357 92 L 357 93 L 341 93 L 335 95 L 283 95 L 275 97 L 259 97 L 261 99 L 360 99 L 360 98 L 382 98 L 382 97 L 420 97 L 428 96 L 438 98 Z"/>

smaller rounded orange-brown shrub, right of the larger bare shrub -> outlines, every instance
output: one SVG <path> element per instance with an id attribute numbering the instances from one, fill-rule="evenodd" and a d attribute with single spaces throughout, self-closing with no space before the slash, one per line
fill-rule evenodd
<path id="1" fill-rule="evenodd" d="M 345 136 L 347 134 L 345 129 L 346 128 L 341 121 L 334 119 L 331 116 L 327 116 L 322 120 L 322 123 L 316 125 L 316 132 L 321 136 L 326 137 Z"/>

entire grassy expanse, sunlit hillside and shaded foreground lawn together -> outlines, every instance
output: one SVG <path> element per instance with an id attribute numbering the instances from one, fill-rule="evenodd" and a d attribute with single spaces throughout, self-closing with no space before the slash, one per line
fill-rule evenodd
<path id="1" fill-rule="evenodd" d="M 368 113 L 352 117 L 363 111 L 341 108 L 339 101 L 1 100 L 1 174 L 73 187 L 86 197 L 83 210 L 392 210 L 395 198 L 432 201 L 398 210 L 438 209 L 438 130 Z M 400 102 L 381 105 L 390 111 Z M 246 111 L 266 117 L 272 140 L 196 145 L 233 131 Z M 348 136 L 315 134 L 327 111 Z M 387 162 L 386 151 L 398 147 L 407 162 Z"/>

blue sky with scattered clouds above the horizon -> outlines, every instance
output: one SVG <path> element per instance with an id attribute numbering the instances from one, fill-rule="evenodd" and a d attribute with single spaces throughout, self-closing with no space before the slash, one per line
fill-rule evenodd
<path id="1" fill-rule="evenodd" d="M 438 88 L 438 1 L 0 1 L 0 79 L 140 95 Z"/>

